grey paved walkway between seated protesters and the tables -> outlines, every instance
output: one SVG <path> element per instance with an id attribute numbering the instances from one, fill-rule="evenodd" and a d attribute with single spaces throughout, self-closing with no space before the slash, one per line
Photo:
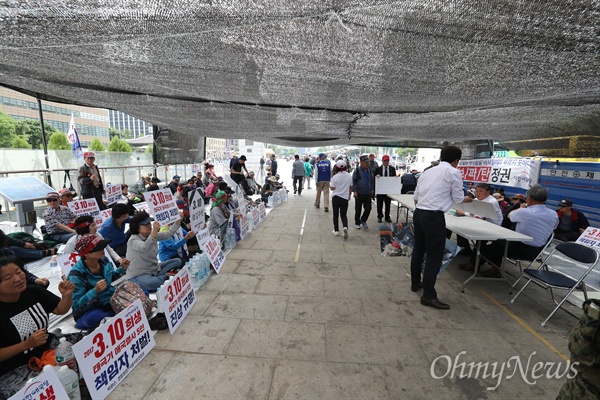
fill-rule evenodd
<path id="1" fill-rule="evenodd" d="M 541 289 L 510 304 L 507 285 L 474 282 L 458 258 L 438 280 L 451 309 L 419 303 L 410 291 L 407 257 L 379 255 L 376 212 L 369 230 L 331 234 L 331 212 L 313 206 L 315 191 L 290 196 L 232 250 L 219 275 L 198 292 L 191 315 L 111 394 L 111 399 L 549 399 L 566 378 L 531 377 L 534 363 L 566 362 L 576 319 L 560 312 L 539 324 L 551 300 Z M 375 208 L 375 207 L 374 207 Z M 394 212 L 395 213 L 395 212 Z M 499 302 L 498 304 L 496 302 Z M 543 304 L 540 305 L 538 304 Z M 508 311 L 547 341 L 543 343 Z M 501 363 L 500 378 L 447 375 L 447 359 Z M 529 369 L 527 362 L 531 357 Z M 431 366 L 438 359 L 434 373 Z M 460 365 L 459 365 L 460 367 Z M 516 373 L 515 373 L 516 371 Z M 465 366 L 465 374 L 469 367 Z M 546 370 L 543 370 L 543 374 Z M 507 379 L 512 375 L 512 378 Z M 501 380 L 498 385 L 498 380 Z M 486 390 L 495 387 L 494 390 Z"/>

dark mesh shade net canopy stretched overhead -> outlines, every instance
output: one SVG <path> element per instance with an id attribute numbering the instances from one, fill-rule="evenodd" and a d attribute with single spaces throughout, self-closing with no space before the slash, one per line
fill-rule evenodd
<path id="1" fill-rule="evenodd" d="M 599 21 L 596 0 L 5 0 L 0 84 L 171 143 L 596 139 Z"/>

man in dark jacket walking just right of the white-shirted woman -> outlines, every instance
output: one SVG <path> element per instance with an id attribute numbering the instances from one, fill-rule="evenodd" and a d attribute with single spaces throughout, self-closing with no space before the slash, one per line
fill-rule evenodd
<path id="1" fill-rule="evenodd" d="M 352 174 L 352 190 L 354 190 L 354 227 L 369 229 L 367 220 L 371 214 L 371 199 L 375 197 L 375 175 L 369 168 L 369 157 L 360 156 L 360 165 Z M 360 215 L 362 209 L 365 209 Z"/>

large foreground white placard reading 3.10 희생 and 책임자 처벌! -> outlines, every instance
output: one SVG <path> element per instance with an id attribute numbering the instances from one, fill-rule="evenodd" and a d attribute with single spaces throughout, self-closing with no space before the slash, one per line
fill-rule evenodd
<path id="1" fill-rule="evenodd" d="M 104 399 L 150 353 L 154 336 L 138 299 L 73 345 L 90 395 Z"/>

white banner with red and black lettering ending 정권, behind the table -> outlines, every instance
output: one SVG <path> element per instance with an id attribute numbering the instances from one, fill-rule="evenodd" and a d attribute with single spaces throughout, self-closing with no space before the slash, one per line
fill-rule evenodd
<path id="1" fill-rule="evenodd" d="M 541 160 L 503 157 L 460 160 L 456 168 L 464 181 L 529 189 L 538 182 L 541 165 Z"/>

